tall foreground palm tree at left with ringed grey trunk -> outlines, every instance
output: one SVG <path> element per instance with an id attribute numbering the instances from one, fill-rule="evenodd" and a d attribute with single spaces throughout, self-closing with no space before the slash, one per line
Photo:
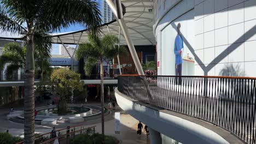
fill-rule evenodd
<path id="1" fill-rule="evenodd" d="M 34 143 L 34 50 L 38 47 L 40 53 L 50 52 L 51 38 L 47 33 L 75 22 L 86 25 L 95 35 L 100 31 L 100 11 L 97 3 L 90 0 L 2 0 L 1 4 L 0 28 L 22 34 L 26 45 L 24 142 Z"/>

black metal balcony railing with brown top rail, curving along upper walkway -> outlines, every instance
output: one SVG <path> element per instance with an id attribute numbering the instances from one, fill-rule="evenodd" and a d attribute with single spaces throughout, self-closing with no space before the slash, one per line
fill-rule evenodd
<path id="1" fill-rule="evenodd" d="M 256 143 L 256 79 L 217 76 L 118 76 L 118 91 L 203 119 Z"/>

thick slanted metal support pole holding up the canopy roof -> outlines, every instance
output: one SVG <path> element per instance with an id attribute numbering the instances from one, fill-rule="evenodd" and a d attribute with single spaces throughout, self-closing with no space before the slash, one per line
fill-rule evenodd
<path id="1" fill-rule="evenodd" d="M 132 56 L 133 62 L 135 63 L 135 67 L 138 71 L 138 74 L 144 75 L 144 71 L 142 69 L 141 62 L 139 62 L 137 52 L 135 50 L 135 47 L 134 47 L 131 37 L 129 35 L 128 29 L 125 25 L 124 17 L 122 19 L 117 19 L 118 15 L 117 15 L 117 9 L 115 8 L 115 4 L 112 2 L 112 0 L 105 0 L 105 1 L 108 3 L 110 9 L 113 11 L 115 18 L 123 31 L 127 46 L 129 47 L 129 50 L 131 52 L 131 56 Z M 117 7 L 119 8 L 119 5 L 117 5 Z M 122 8 L 119 8 L 119 9 L 122 9 Z"/>

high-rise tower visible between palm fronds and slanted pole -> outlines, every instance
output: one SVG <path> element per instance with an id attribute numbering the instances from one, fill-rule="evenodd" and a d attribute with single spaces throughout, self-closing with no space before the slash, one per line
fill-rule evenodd
<path id="1" fill-rule="evenodd" d="M 106 1 L 101 0 L 101 20 L 102 23 L 108 23 L 114 20 L 112 10 L 109 8 Z"/>

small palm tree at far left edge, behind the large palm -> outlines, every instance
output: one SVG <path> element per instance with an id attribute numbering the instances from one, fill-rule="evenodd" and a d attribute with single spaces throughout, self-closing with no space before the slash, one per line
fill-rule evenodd
<path id="1" fill-rule="evenodd" d="M 25 66 L 26 49 L 17 43 L 8 43 L 4 45 L 2 52 L 0 56 L 0 69 L 3 69 L 4 65 L 8 63 L 4 73 L 7 79 L 12 79 L 13 71 Z"/>

